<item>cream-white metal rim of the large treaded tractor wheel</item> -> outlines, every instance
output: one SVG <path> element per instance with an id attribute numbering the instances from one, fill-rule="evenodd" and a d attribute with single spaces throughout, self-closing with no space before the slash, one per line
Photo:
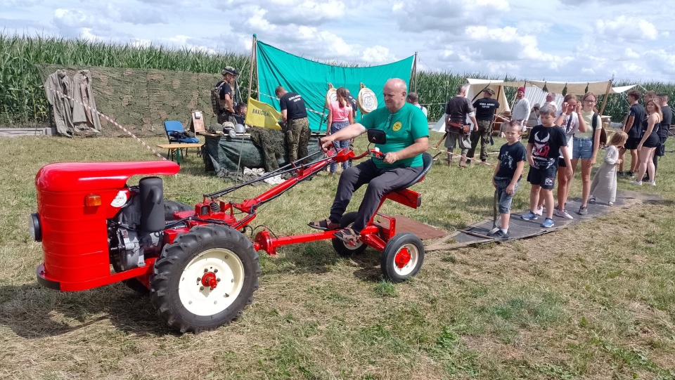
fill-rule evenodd
<path id="1" fill-rule="evenodd" d="M 200 280 L 214 273 L 219 280 L 211 289 Z M 215 315 L 228 308 L 244 284 L 244 266 L 229 249 L 214 248 L 195 256 L 181 273 L 178 296 L 183 306 L 195 315 Z"/>

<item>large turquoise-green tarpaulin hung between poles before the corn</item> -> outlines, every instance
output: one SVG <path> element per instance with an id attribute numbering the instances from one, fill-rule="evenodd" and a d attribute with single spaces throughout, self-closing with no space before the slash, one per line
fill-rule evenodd
<path id="1" fill-rule="evenodd" d="M 385 82 L 390 78 L 400 78 L 409 83 L 414 58 L 411 55 L 380 66 L 341 67 L 307 60 L 260 41 L 256 41 L 256 55 L 260 100 L 279 110 L 279 102 L 274 96 L 276 86 L 299 93 L 308 108 L 307 117 L 312 131 L 319 131 L 319 126 L 326 131 L 326 123 L 321 125 L 321 115 L 310 110 L 324 111 L 329 82 L 336 89 L 340 86 L 347 88 L 354 98 L 363 83 L 378 96 L 378 107 L 384 107 L 382 88 Z M 328 111 L 325 112 L 327 115 Z"/>

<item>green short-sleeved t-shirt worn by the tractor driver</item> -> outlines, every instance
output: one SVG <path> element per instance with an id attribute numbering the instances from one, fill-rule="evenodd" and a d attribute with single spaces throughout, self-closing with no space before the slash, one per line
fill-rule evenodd
<path id="1" fill-rule="evenodd" d="M 385 131 L 387 143 L 383 145 L 375 144 L 375 147 L 380 148 L 380 152 L 383 152 L 385 155 L 388 152 L 398 152 L 413 145 L 418 138 L 429 137 L 427 118 L 424 116 L 422 110 L 411 103 L 406 103 L 394 114 L 390 110 L 387 110 L 387 107 L 378 108 L 366 114 L 359 124 L 366 127 L 366 129 L 381 129 Z M 398 166 L 416 167 L 422 166 L 422 155 L 400 159 L 393 164 L 386 164 L 381 159 L 373 159 L 373 162 L 380 169 Z"/>

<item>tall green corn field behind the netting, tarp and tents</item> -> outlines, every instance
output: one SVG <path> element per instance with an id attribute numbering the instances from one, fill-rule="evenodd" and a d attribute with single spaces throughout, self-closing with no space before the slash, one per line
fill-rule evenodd
<path id="1" fill-rule="evenodd" d="M 62 37 L 25 37 L 0 34 L 0 127 L 39 126 L 49 124 L 49 104 L 36 65 L 64 65 L 79 67 L 123 67 L 136 69 L 171 70 L 217 74 L 226 65 L 236 67 L 241 75 L 240 88 L 250 86 L 250 57 L 243 53 L 207 53 L 186 48 L 169 49 L 164 46 L 134 46 L 133 44 L 104 44 Z M 347 64 L 349 65 L 349 64 Z M 352 66 L 354 66 L 352 64 Z M 419 72 L 413 89 L 420 95 L 420 103 L 429 110 L 429 119 L 436 120 L 444 104 L 453 96 L 454 89 L 468 77 L 487 77 L 480 73 Z M 536 79 L 536 78 L 532 78 Z M 574 81 L 570 78 L 570 81 Z M 616 81 L 615 86 L 634 84 Z M 675 99 L 675 84 L 661 82 L 641 83 L 645 89 L 669 93 Z M 507 89 L 513 98 L 515 89 Z M 600 95 L 600 101 L 603 96 Z M 628 103 L 625 94 L 610 95 L 605 114 L 620 121 Z"/>

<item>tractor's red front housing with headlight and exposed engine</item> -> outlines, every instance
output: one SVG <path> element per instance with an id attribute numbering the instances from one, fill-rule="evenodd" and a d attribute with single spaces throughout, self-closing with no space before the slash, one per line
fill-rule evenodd
<path id="1" fill-rule="evenodd" d="M 58 162 L 35 176 L 30 232 L 42 243 L 37 280 L 61 291 L 92 289 L 148 275 L 165 229 L 162 180 L 170 161 Z M 132 176 L 144 176 L 129 186 Z M 111 268 L 112 267 L 112 268 Z"/>

